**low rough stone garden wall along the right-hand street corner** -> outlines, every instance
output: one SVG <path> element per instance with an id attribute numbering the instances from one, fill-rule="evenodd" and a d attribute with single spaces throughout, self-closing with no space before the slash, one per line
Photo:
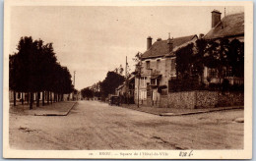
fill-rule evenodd
<path id="1" fill-rule="evenodd" d="M 243 92 L 182 91 L 160 96 L 161 108 L 213 108 L 244 104 Z"/>

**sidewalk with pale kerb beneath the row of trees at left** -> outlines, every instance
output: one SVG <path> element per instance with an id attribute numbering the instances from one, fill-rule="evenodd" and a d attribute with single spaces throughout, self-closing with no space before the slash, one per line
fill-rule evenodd
<path id="1" fill-rule="evenodd" d="M 33 104 L 32 110 L 30 110 L 28 104 L 11 106 L 10 113 L 34 116 L 67 116 L 76 103 L 75 101 L 55 102 L 45 106 L 40 105 L 39 107 L 35 107 Z"/>

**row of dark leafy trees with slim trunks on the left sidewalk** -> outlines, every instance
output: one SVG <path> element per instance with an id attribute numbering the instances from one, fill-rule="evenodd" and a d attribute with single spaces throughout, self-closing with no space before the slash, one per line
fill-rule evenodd
<path id="1" fill-rule="evenodd" d="M 60 101 L 64 93 L 73 91 L 70 72 L 57 62 L 52 43 L 43 44 L 41 39 L 33 40 L 31 36 L 25 36 L 21 37 L 17 50 L 9 57 L 9 86 L 14 91 L 14 105 L 16 92 L 28 93 L 32 109 L 34 93 L 36 106 L 39 106 L 40 93 L 44 105 L 45 98 L 47 103 L 49 99 Z"/>

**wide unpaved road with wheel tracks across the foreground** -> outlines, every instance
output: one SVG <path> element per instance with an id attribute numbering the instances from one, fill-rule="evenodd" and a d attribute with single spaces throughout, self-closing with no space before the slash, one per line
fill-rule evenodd
<path id="1" fill-rule="evenodd" d="M 243 110 L 160 117 L 80 101 L 68 116 L 10 114 L 15 149 L 241 149 Z"/>

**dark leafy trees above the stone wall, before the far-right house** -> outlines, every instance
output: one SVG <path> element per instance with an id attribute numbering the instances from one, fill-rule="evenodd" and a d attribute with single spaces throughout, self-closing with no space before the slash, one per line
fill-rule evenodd
<path id="1" fill-rule="evenodd" d="M 198 78 L 201 78 L 202 83 L 204 67 L 217 70 L 220 80 L 219 89 L 223 84 L 225 87 L 228 86 L 226 80 L 224 83 L 222 81 L 230 69 L 232 77 L 244 77 L 244 43 L 237 39 L 233 39 L 231 42 L 225 38 L 218 40 L 198 39 L 194 47 L 191 43 L 178 49 L 176 51 L 176 76 L 178 80 L 173 83 L 181 83 L 184 88 L 186 86 L 193 88 L 194 83 L 187 84 Z M 212 79 L 211 76 L 207 78 L 209 83 Z M 178 85 L 180 84 L 176 84 L 176 88 Z"/>

